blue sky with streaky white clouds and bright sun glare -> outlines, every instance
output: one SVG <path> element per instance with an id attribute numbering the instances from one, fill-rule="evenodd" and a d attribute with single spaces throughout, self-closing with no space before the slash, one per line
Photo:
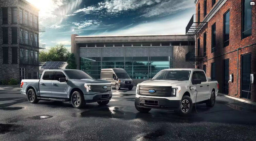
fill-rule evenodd
<path id="1" fill-rule="evenodd" d="M 40 9 L 46 51 L 77 35 L 182 35 L 194 0 L 26 0 Z"/>

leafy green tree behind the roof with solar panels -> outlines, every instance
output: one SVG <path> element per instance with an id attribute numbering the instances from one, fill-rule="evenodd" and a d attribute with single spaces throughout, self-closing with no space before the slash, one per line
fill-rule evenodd
<path id="1" fill-rule="evenodd" d="M 55 47 L 51 47 L 48 52 L 41 51 L 39 53 L 39 61 L 67 61 L 70 52 L 64 46 L 64 44 L 58 44 Z"/>

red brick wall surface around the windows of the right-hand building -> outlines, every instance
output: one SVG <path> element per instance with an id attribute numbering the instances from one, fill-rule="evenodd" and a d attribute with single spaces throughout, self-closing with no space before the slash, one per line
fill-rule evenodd
<path id="1" fill-rule="evenodd" d="M 199 0 L 196 4 L 196 13 L 198 4 L 200 3 L 200 13 L 204 13 L 204 0 Z M 217 0 L 216 0 L 217 3 Z M 199 34 L 196 36 L 196 40 L 200 38 L 200 47 L 203 48 L 203 34 L 205 30 L 206 33 L 206 48 L 207 48 L 207 58 L 204 59 L 203 63 L 198 62 L 200 68 L 206 64 L 206 75 L 211 77 L 211 63 L 216 62 L 216 78 L 219 82 L 219 92 L 223 92 L 223 60 L 229 59 L 229 74 L 234 73 L 234 82 L 229 83 L 229 95 L 234 97 L 240 97 L 240 63 L 241 55 L 252 53 L 252 69 L 251 72 L 256 72 L 255 61 L 256 61 L 256 45 L 247 47 L 245 49 L 239 50 L 238 56 L 238 81 L 237 81 L 237 51 L 229 53 L 220 57 L 217 57 L 221 54 L 228 53 L 230 51 L 236 50 L 239 47 L 245 47 L 247 45 L 253 44 L 256 42 L 256 6 L 252 8 L 252 35 L 241 39 L 241 12 L 242 12 L 242 0 L 228 0 L 221 9 L 211 18 L 210 21 L 205 25 L 204 30 L 202 29 Z M 207 13 L 211 10 L 211 0 L 207 0 Z M 223 48 L 223 14 L 230 9 L 230 40 L 229 46 Z M 216 52 L 211 53 L 211 26 L 216 22 Z M 197 48 L 197 47 L 196 47 Z M 217 57 L 217 58 L 214 58 Z M 255 74 L 256 77 L 256 74 Z M 238 83 L 238 95 L 237 91 Z M 251 100 L 256 102 L 256 88 L 254 84 L 251 84 Z"/>

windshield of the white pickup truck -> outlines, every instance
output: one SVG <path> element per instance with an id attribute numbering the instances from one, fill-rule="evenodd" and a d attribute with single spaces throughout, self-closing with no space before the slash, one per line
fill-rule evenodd
<path id="1" fill-rule="evenodd" d="M 189 80 L 190 76 L 189 70 L 162 70 L 157 73 L 152 80 L 179 80 L 186 81 Z"/>

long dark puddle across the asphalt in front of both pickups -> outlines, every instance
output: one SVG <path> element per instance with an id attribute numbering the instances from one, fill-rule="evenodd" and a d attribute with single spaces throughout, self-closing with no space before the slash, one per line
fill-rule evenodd
<path id="1" fill-rule="evenodd" d="M 73 114 L 76 116 L 76 114 Z M 149 122 L 173 122 L 173 123 L 194 123 L 203 121 L 202 118 L 196 116 L 181 117 L 170 112 L 154 112 L 140 113 L 127 111 L 125 107 L 113 106 L 104 107 L 97 110 L 87 110 L 80 113 L 80 117 L 101 117 L 101 118 L 121 118 L 126 120 L 141 119 Z"/>

